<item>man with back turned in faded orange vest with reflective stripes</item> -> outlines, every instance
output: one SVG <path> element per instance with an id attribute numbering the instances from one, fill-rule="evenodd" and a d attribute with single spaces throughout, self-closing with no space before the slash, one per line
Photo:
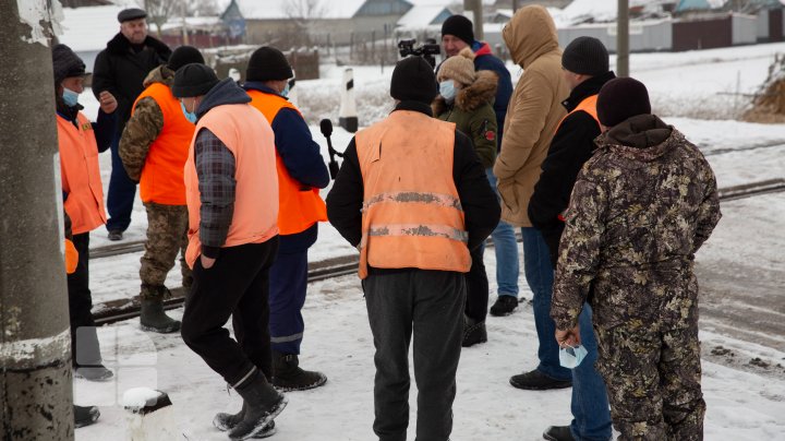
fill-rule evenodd
<path id="1" fill-rule="evenodd" d="M 416 438 L 449 439 L 469 253 L 499 221 L 471 140 L 432 118 L 437 94 L 427 61 L 399 61 L 390 83 L 395 110 L 357 133 L 327 196 L 330 223 L 360 250 L 376 348 L 373 428 L 379 440 L 406 439 L 412 331 Z"/>

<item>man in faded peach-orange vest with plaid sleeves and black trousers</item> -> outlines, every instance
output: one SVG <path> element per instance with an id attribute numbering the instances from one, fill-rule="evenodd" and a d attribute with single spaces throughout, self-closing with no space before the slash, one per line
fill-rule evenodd
<path id="1" fill-rule="evenodd" d="M 243 398 L 214 425 L 231 439 L 271 434 L 287 404 L 268 382 L 269 269 L 278 251 L 275 136 L 232 79 L 200 63 L 174 74 L 172 94 L 196 120 L 185 163 L 194 284 L 180 330 L 185 344 Z M 237 341 L 224 325 L 232 317 Z"/>

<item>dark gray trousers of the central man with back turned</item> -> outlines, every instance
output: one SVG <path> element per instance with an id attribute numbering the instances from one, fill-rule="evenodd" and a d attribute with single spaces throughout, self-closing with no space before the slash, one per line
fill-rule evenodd
<path id="1" fill-rule="evenodd" d="M 461 350 L 464 275 L 424 270 L 378 272 L 363 281 L 363 290 L 376 348 L 374 432 L 381 441 L 407 438 L 409 343 L 414 331 L 416 441 L 447 441 L 452 431 Z"/>

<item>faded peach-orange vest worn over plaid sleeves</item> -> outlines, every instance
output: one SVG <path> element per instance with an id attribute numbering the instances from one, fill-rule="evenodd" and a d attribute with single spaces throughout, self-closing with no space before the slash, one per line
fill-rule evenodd
<path id="1" fill-rule="evenodd" d="M 217 106 L 196 124 L 208 129 L 234 155 L 234 215 L 224 247 L 262 243 L 278 235 L 278 177 L 275 172 L 275 135 L 269 123 L 246 104 Z M 189 246 L 185 260 L 193 267 L 202 254 L 200 241 L 198 177 L 193 136 L 185 163 L 185 200 L 189 208 Z"/>

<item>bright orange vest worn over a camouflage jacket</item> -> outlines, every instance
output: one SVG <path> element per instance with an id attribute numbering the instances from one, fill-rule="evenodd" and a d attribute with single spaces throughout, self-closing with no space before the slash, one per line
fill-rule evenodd
<path id="1" fill-rule="evenodd" d="M 169 86 L 153 83 L 134 102 L 150 97 L 164 114 L 164 128 L 150 144 L 140 178 L 140 196 L 143 202 L 162 205 L 185 205 L 183 167 L 196 127 L 182 112 L 180 102 Z M 133 115 L 133 110 L 132 114 Z"/>

